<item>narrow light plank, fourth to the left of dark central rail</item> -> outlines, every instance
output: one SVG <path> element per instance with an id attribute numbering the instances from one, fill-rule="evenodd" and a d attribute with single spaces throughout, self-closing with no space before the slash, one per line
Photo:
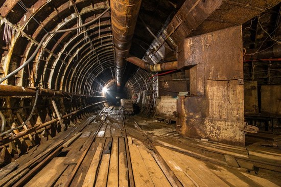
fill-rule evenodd
<path id="1" fill-rule="evenodd" d="M 99 167 L 99 162 L 102 156 L 102 150 L 105 144 L 105 138 L 102 138 L 99 142 L 99 146 L 93 156 L 87 174 L 85 176 L 82 187 L 92 187 L 96 180 L 96 174 Z"/>

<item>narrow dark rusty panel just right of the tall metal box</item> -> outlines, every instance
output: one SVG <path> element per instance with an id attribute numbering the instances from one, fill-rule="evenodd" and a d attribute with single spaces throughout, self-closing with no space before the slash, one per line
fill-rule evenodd
<path id="1" fill-rule="evenodd" d="M 259 114 L 256 81 L 244 82 L 244 112 L 252 115 Z"/>

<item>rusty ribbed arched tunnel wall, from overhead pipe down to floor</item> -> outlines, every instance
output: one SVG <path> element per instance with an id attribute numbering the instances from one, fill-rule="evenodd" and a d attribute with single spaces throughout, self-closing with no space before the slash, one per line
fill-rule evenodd
<path id="1" fill-rule="evenodd" d="M 0 111 L 6 119 L 4 130 L 18 127 L 31 117 L 24 129 L 14 133 L 32 131 L 36 141 L 30 144 L 35 145 L 64 130 L 56 121 L 58 115 L 68 128 L 100 110 L 105 101 L 109 101 L 103 95 L 106 85 L 122 98 L 132 98 L 142 89 L 152 89 L 151 85 L 144 86 L 151 74 L 129 64 L 126 68 L 130 73 L 124 78 L 123 91 L 116 93 L 108 7 L 108 1 L 104 0 L 0 1 L 1 79 L 24 64 L 42 41 L 35 58 L 2 82 Z M 90 25 L 73 29 L 95 19 Z M 49 34 L 43 39 L 46 33 L 60 30 L 68 31 Z M 40 89 L 37 102 L 35 87 Z M 50 126 L 52 121 L 57 124 L 56 128 Z M 13 142 L 8 133 L 3 137 L 7 138 L 6 142 Z M 21 151 L 30 146 L 25 144 L 13 142 Z M 6 147 L 2 151 L 5 150 Z M 9 153 L 14 157 L 24 152 L 11 148 Z M 10 158 L 0 161 L 0 165 L 9 162 Z"/>

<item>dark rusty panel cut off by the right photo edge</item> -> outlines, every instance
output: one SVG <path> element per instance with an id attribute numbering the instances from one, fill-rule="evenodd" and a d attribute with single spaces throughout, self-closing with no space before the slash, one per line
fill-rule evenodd
<path id="1" fill-rule="evenodd" d="M 263 116 L 281 117 L 281 85 L 261 86 L 261 100 Z"/>

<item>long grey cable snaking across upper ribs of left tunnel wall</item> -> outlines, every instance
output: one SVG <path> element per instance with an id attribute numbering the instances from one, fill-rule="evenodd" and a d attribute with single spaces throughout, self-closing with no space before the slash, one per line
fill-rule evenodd
<path id="1" fill-rule="evenodd" d="M 39 49 L 41 48 L 41 46 L 43 45 L 43 42 L 45 41 L 45 39 L 51 35 L 51 34 L 56 34 L 56 33 L 65 33 L 65 32 L 69 32 L 69 31 L 74 31 L 77 29 L 80 29 L 82 27 L 86 27 L 90 24 L 92 24 L 93 22 L 95 22 L 96 20 L 98 20 L 100 17 L 102 17 L 106 12 L 108 12 L 110 10 L 110 6 L 98 17 L 96 17 L 95 19 L 81 25 L 75 28 L 71 28 L 71 29 L 64 29 L 64 30 L 58 30 L 58 31 L 52 31 L 49 33 L 46 33 L 43 38 L 41 39 L 40 43 L 38 44 L 36 50 L 33 52 L 33 54 L 31 55 L 31 57 L 25 62 L 23 63 L 21 66 L 19 66 L 18 68 L 16 68 L 13 72 L 11 72 L 10 74 L 8 74 L 7 76 L 5 76 L 4 78 L 0 79 L 0 84 L 2 82 L 4 82 L 5 80 L 9 79 L 10 77 L 14 76 L 16 73 L 18 73 L 22 68 L 26 67 L 27 64 L 29 64 L 30 62 L 32 62 L 32 60 L 35 58 L 36 54 L 38 53 Z M 1 135 L 0 135 L 1 136 Z"/>

